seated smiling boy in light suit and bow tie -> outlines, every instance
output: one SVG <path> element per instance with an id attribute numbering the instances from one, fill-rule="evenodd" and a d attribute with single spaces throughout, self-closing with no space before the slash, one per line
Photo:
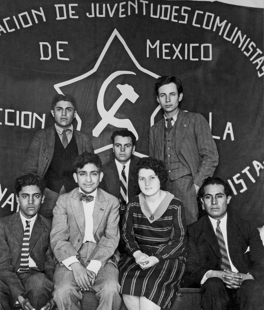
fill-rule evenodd
<path id="1" fill-rule="evenodd" d="M 119 201 L 98 188 L 101 167 L 98 155 L 79 155 L 73 174 L 79 187 L 61 195 L 53 210 L 51 247 L 58 260 L 53 295 L 59 310 L 81 309 L 82 290 L 96 293 L 98 310 L 121 306 L 116 253 Z"/>

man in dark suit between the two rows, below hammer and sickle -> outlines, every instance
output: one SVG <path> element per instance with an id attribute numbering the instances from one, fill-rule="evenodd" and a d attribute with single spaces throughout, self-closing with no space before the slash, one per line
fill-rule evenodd
<path id="1" fill-rule="evenodd" d="M 119 199 L 119 228 L 121 230 L 125 205 L 137 195 L 137 190 L 131 180 L 135 162 L 133 153 L 136 137 L 129 130 L 120 130 L 113 132 L 111 140 L 114 157 L 102 167 L 104 177 L 99 187 Z M 118 250 L 123 253 L 122 249 L 123 247 L 119 244 Z"/>

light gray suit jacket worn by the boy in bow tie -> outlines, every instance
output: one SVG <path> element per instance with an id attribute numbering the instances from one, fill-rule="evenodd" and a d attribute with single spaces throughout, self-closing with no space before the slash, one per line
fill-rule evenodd
<path id="1" fill-rule="evenodd" d="M 102 267 L 109 260 L 117 265 L 119 260 L 119 254 L 116 251 L 119 242 L 119 201 L 100 188 L 97 188 L 95 197 L 93 221 L 93 234 L 97 245 L 89 260 L 100 260 Z M 84 233 L 85 216 L 78 187 L 70 193 L 61 195 L 53 210 L 50 244 L 61 265 L 64 259 L 71 256 L 79 258 Z"/>

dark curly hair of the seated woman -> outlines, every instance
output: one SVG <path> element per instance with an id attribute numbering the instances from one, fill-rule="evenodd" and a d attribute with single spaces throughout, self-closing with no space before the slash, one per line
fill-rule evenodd
<path id="1" fill-rule="evenodd" d="M 154 157 L 143 157 L 143 158 L 139 158 L 134 166 L 133 166 L 133 175 L 132 175 L 132 182 L 135 186 L 135 188 L 137 188 L 137 190 L 140 192 L 139 189 L 139 185 L 138 185 L 138 173 L 139 170 L 141 169 L 151 169 L 155 172 L 155 175 L 157 175 L 157 177 L 160 180 L 160 186 L 165 185 L 167 178 L 168 178 L 168 174 L 167 174 L 167 170 L 164 166 L 164 162 L 161 160 L 158 160 Z"/>

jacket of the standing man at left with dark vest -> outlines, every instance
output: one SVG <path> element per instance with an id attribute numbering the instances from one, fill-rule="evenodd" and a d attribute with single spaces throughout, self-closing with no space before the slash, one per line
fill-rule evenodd
<path id="1" fill-rule="evenodd" d="M 51 163 L 55 146 L 55 125 L 41 129 L 36 132 L 24 161 L 21 174 L 34 173 L 41 178 L 46 174 Z M 73 135 L 76 139 L 78 155 L 87 151 L 94 152 L 88 135 L 73 128 Z"/>

